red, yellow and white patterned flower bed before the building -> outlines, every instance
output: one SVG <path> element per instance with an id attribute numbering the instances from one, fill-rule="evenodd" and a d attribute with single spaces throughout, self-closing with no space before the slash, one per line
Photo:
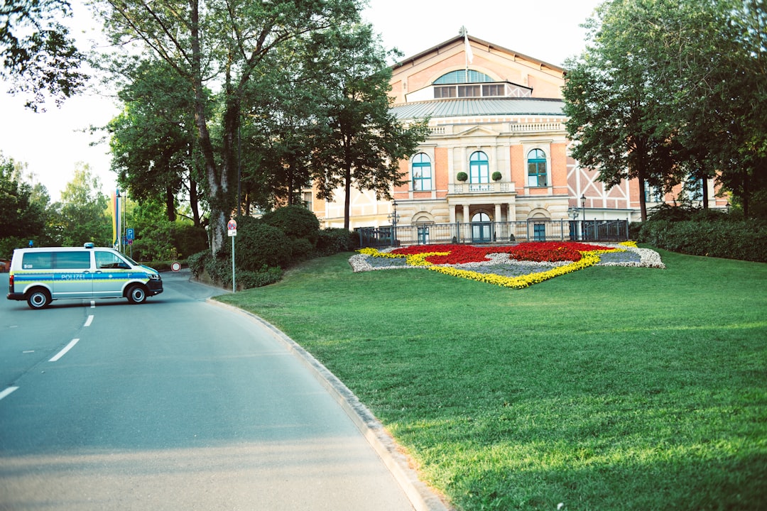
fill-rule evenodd
<path id="1" fill-rule="evenodd" d="M 502 287 L 521 289 L 581 268 L 632 266 L 663 268 L 656 251 L 622 244 L 545 241 L 513 246 L 411 245 L 388 251 L 360 249 L 349 260 L 358 271 L 424 268 Z"/>

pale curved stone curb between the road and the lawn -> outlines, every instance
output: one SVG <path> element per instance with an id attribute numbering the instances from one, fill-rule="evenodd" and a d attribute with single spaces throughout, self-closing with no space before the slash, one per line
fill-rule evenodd
<path id="1" fill-rule="evenodd" d="M 397 443 L 390 434 L 384 429 L 384 425 L 375 418 L 374 414 L 367 409 L 365 405 L 357 399 L 357 396 L 344 385 L 341 380 L 328 371 L 311 353 L 307 352 L 290 337 L 286 336 L 276 326 L 268 323 L 265 319 L 249 313 L 246 310 L 231 306 L 227 303 L 221 303 L 216 300 L 208 299 L 208 303 L 220 306 L 224 309 L 232 310 L 244 316 L 249 316 L 255 322 L 264 326 L 279 342 L 282 342 L 291 352 L 298 356 L 314 375 L 314 378 L 328 389 L 335 401 L 341 405 L 346 414 L 351 418 L 357 429 L 364 435 L 367 442 L 374 448 L 381 460 L 389 469 L 390 473 L 397 480 L 397 483 L 403 489 L 410 503 L 416 511 L 451 511 L 452 508 L 446 506 L 439 496 L 430 490 L 426 484 L 418 479 L 418 475 L 408 464 L 405 457 L 397 448 Z"/>

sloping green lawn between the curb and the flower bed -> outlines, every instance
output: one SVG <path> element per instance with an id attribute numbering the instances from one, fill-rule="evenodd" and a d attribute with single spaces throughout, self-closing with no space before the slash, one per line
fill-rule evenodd
<path id="1" fill-rule="evenodd" d="M 326 365 L 456 509 L 767 509 L 767 264 L 659 252 L 524 290 L 341 254 L 219 300 Z"/>

